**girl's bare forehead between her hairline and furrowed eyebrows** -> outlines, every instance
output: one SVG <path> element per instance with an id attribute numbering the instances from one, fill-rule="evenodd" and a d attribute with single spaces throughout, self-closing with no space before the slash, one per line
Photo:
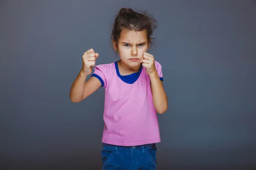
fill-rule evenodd
<path id="1" fill-rule="evenodd" d="M 148 40 L 147 31 L 123 30 L 120 34 L 119 42 L 138 43 Z"/>

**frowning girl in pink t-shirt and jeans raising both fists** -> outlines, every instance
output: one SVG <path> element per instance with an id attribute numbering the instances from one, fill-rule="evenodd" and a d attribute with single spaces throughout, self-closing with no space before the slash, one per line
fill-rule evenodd
<path id="1" fill-rule="evenodd" d="M 166 112 L 168 101 L 161 65 L 147 53 L 155 28 L 156 20 L 149 14 L 120 9 L 111 36 L 120 60 L 95 66 L 99 54 L 89 49 L 71 87 L 72 102 L 80 102 L 100 87 L 105 88 L 103 170 L 157 168 L 157 112 Z M 94 73 L 85 82 L 93 66 Z"/>

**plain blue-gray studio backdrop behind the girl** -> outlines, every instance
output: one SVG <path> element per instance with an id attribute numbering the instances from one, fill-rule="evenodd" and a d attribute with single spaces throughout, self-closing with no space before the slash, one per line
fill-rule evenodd
<path id="1" fill-rule="evenodd" d="M 69 91 L 87 49 L 116 61 L 122 7 L 158 21 L 159 170 L 256 168 L 255 0 L 1 0 L 0 169 L 100 169 L 104 88 L 80 103 Z"/>

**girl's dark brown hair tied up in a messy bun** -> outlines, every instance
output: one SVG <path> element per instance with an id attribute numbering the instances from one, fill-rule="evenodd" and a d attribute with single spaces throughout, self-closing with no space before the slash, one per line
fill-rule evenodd
<path id="1" fill-rule="evenodd" d="M 152 34 L 157 28 L 157 20 L 146 11 L 135 12 L 131 8 L 121 8 L 113 23 L 111 40 L 114 40 L 118 48 L 118 40 L 121 32 L 126 30 L 147 31 L 148 44 L 152 45 Z"/>

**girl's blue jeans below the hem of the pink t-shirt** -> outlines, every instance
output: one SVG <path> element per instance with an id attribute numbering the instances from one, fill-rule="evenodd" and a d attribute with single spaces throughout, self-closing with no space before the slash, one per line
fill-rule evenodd
<path id="1" fill-rule="evenodd" d="M 102 170 L 156 170 L 156 144 L 116 146 L 103 143 Z"/>

